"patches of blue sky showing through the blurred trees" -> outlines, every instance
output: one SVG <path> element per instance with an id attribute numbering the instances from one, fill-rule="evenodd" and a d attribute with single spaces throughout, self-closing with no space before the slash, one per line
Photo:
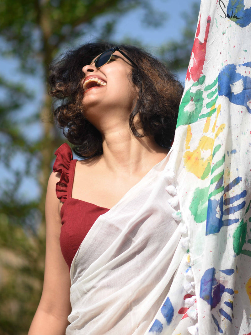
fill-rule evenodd
<path id="1" fill-rule="evenodd" d="M 193 2 L 199 3 L 199 0 L 152 0 L 152 5 L 155 9 L 159 10 L 161 13 L 164 13 L 167 16 L 164 24 L 154 28 L 154 27 L 146 27 L 146 25 L 142 24 L 144 20 L 144 11 L 141 9 L 134 10 L 130 13 L 127 13 L 123 17 L 119 18 L 115 32 L 112 37 L 114 41 L 121 41 L 124 38 L 131 38 L 141 41 L 143 46 L 146 46 L 148 51 L 153 54 L 157 53 L 158 47 L 167 42 L 168 40 L 180 39 L 181 31 L 184 28 L 184 21 L 181 18 L 182 12 L 190 12 L 191 4 Z M 97 22 L 98 26 L 98 22 Z M 95 38 L 95 31 L 92 35 L 87 36 L 87 40 Z M 83 43 L 83 41 L 81 41 Z M 0 41 L 1 44 L 1 41 Z M 34 87 L 35 93 L 35 104 L 39 106 L 40 100 L 43 92 L 43 82 L 39 75 L 37 76 L 24 76 L 18 71 L 18 63 L 12 58 L 8 60 L 0 59 L 1 64 L 1 73 L 5 77 L 15 78 L 17 81 L 21 80 L 22 82 L 27 83 L 29 87 Z M 184 82 L 185 79 L 185 71 L 178 73 L 180 76 L 180 80 Z M 0 97 L 3 92 L 0 92 Z M 27 104 L 22 111 L 20 111 L 19 115 L 27 116 L 32 115 L 34 111 L 34 105 Z M 30 139 L 39 136 L 41 133 L 41 127 L 39 125 L 34 124 L 29 128 L 29 137 Z M 21 164 L 22 165 L 22 157 L 17 156 L 13 160 L 13 164 Z M 1 168 L 0 164 L 0 168 Z M 7 178 L 11 178 L 11 175 L 7 170 L 4 169 L 4 175 Z M 38 186 L 31 179 L 26 179 L 25 182 L 21 186 L 21 194 L 26 199 L 30 199 L 36 197 L 39 194 Z"/>

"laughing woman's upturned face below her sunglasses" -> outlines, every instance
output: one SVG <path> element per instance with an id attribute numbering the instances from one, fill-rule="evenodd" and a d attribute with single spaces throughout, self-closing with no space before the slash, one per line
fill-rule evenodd
<path id="1" fill-rule="evenodd" d="M 99 69 L 94 66 L 93 61 L 82 69 L 85 116 L 93 123 L 92 116 L 96 118 L 102 113 L 108 115 L 110 112 L 117 112 L 126 115 L 128 120 L 138 95 L 138 88 L 130 79 L 131 63 L 118 51 L 115 51 L 111 60 Z"/>

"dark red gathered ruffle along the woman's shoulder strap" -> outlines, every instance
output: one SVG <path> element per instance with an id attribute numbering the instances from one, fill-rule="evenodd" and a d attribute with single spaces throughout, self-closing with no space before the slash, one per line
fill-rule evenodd
<path id="1" fill-rule="evenodd" d="M 53 165 L 53 172 L 59 172 L 61 174 L 60 181 L 56 184 L 56 194 L 58 199 L 65 202 L 68 193 L 71 192 L 69 181 L 72 179 L 70 178 L 70 166 L 73 160 L 73 155 L 71 148 L 67 143 L 62 144 L 58 150 L 56 150 L 55 155 L 57 158 Z M 71 196 L 71 193 L 69 193 L 69 196 Z"/>

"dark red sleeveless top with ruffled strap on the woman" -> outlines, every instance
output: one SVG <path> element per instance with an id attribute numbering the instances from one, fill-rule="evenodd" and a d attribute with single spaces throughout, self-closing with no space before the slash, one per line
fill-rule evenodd
<path id="1" fill-rule="evenodd" d="M 56 184 L 56 194 L 63 202 L 60 211 L 62 219 L 60 247 L 70 270 L 72 260 L 91 226 L 101 214 L 106 213 L 109 209 L 72 198 L 77 159 L 73 159 L 71 148 L 67 143 L 62 144 L 55 155 L 57 158 L 53 171 L 61 174 L 60 181 Z"/>

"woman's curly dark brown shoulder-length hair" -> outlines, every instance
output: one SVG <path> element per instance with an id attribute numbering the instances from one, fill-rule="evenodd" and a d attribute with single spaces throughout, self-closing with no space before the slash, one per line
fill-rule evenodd
<path id="1" fill-rule="evenodd" d="M 93 157 L 103 152 L 100 132 L 83 115 L 82 68 L 112 47 L 114 44 L 110 43 L 88 43 L 60 56 L 49 68 L 49 94 L 57 98 L 54 119 L 59 127 L 64 128 L 64 135 L 81 157 Z M 132 65 L 131 77 L 139 88 L 137 103 L 129 118 L 133 134 L 154 136 L 159 145 L 170 147 L 183 86 L 164 64 L 146 51 L 129 45 L 118 47 L 137 64 Z M 136 129 L 137 119 L 141 122 L 142 133 Z"/>

